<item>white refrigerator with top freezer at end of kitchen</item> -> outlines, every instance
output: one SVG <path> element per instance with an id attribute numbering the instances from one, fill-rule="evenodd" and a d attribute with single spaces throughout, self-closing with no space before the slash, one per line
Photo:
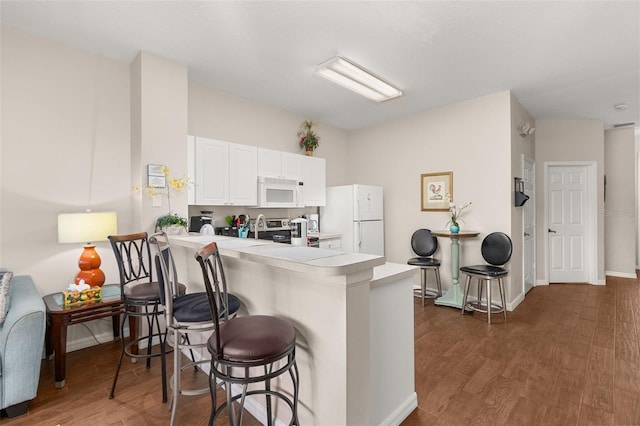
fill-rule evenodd
<path id="1" fill-rule="evenodd" d="M 384 256 L 382 187 L 328 187 L 319 227 L 322 233 L 341 234 L 343 251 Z"/>

